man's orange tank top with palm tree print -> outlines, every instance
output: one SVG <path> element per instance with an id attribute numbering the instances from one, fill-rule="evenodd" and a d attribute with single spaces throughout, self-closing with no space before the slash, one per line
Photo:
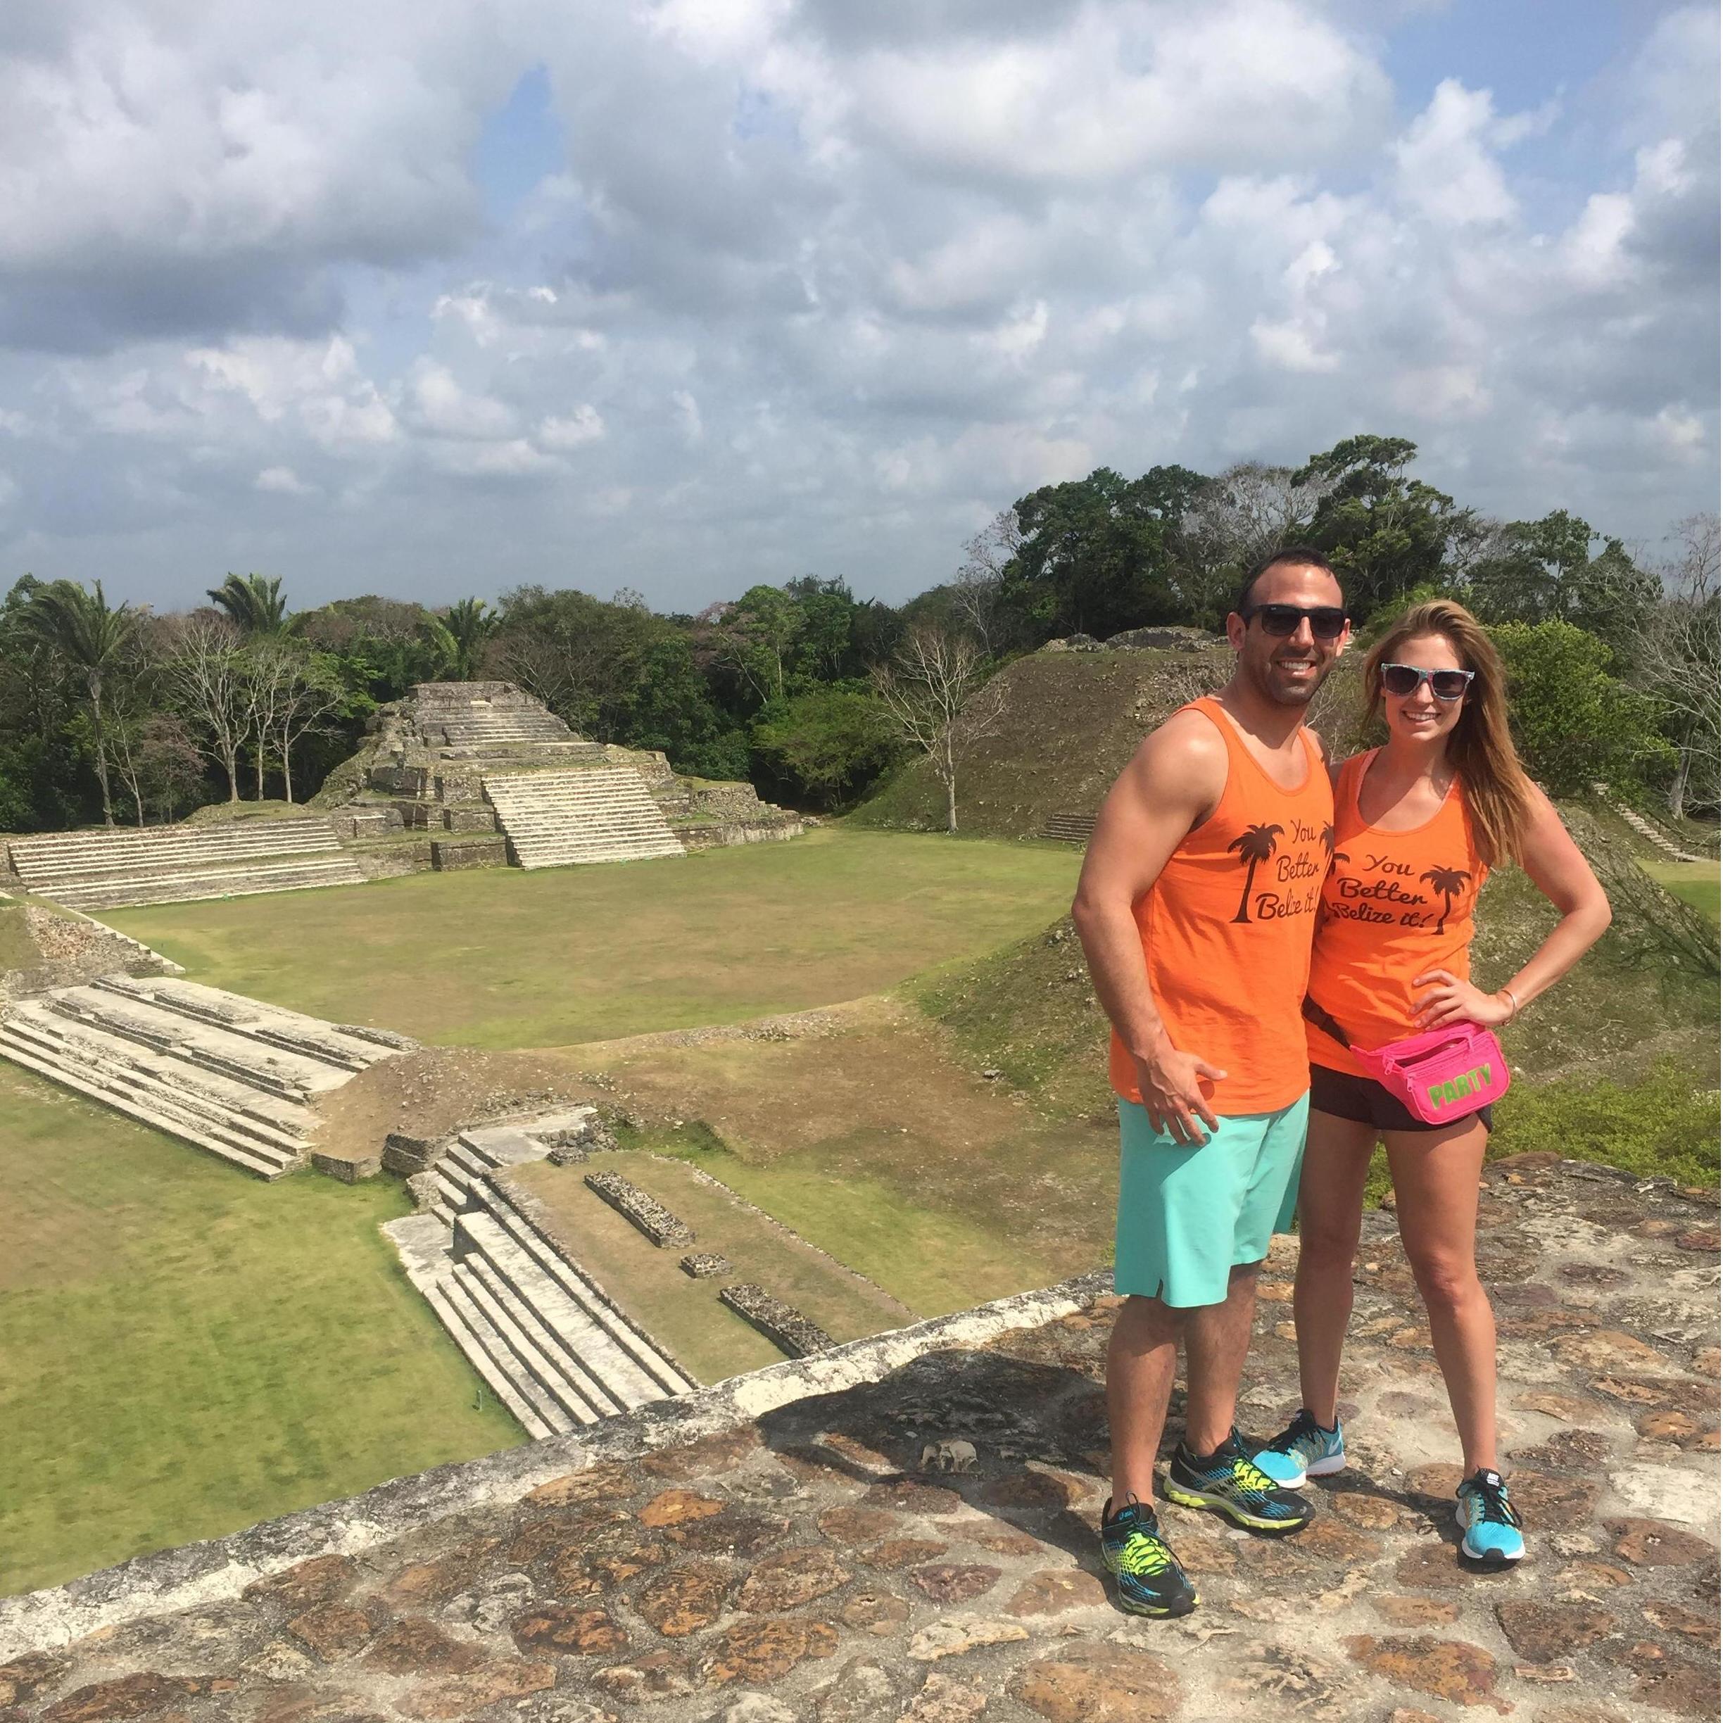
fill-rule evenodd
<path id="1" fill-rule="evenodd" d="M 1220 731 L 1227 787 L 1132 905 L 1149 991 L 1173 1046 L 1227 1073 L 1203 1084 L 1216 1113 L 1273 1113 L 1309 1087 L 1299 1008 L 1334 825 L 1328 770 L 1301 731 L 1304 782 L 1282 789 L 1218 700 L 1182 710 Z M 1117 1034 L 1108 1063 L 1113 1089 L 1141 1101 Z"/>

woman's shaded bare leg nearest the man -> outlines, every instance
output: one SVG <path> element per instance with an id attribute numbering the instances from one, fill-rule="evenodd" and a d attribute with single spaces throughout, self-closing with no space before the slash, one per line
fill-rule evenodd
<path id="1" fill-rule="evenodd" d="M 1365 1210 L 1365 1175 L 1377 1127 L 1311 1108 L 1297 1187 L 1297 1377 L 1304 1406 L 1325 1428 L 1339 1416 L 1340 1353 L 1353 1320 L 1353 1261 Z"/>

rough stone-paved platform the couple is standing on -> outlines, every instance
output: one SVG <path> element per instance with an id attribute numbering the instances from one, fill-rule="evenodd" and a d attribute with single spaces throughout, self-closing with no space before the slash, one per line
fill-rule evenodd
<path id="1" fill-rule="evenodd" d="M 1372 1215 L 1353 1465 L 1292 1540 L 1166 1508 L 1203 1594 L 1184 1621 L 1120 1616 L 1098 1571 L 1113 1301 L 1091 1280 L 0 1601 L 0 1716 L 1716 1716 L 1714 1197 L 1551 1161 L 1490 1168 L 1482 1204 L 1515 1571 L 1458 1563 L 1442 1387 Z M 1296 1399 L 1294 1253 L 1265 1277 L 1258 1432 Z M 973 1470 L 918 1473 L 942 1440 Z"/>

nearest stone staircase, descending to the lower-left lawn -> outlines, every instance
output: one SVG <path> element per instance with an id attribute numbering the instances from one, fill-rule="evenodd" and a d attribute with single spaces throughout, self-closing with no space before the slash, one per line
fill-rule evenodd
<path id="1" fill-rule="evenodd" d="M 550 1135 L 577 1115 L 591 1108 L 531 1129 Z M 698 1387 L 493 1177 L 546 1153 L 527 1129 L 463 1130 L 429 1168 L 431 1206 L 383 1228 L 455 1344 L 534 1439 Z"/>

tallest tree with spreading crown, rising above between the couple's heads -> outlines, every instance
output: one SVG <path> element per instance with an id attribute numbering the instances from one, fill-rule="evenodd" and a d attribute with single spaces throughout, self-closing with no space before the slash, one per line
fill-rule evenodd
<path id="1" fill-rule="evenodd" d="M 1340 572 L 1347 605 L 1368 617 L 1399 593 L 1442 579 L 1442 557 L 1458 520 L 1452 496 L 1406 476 L 1416 443 L 1399 436 L 1353 436 L 1292 474 L 1297 486 L 1327 486 L 1309 524 L 1309 543 Z"/>

